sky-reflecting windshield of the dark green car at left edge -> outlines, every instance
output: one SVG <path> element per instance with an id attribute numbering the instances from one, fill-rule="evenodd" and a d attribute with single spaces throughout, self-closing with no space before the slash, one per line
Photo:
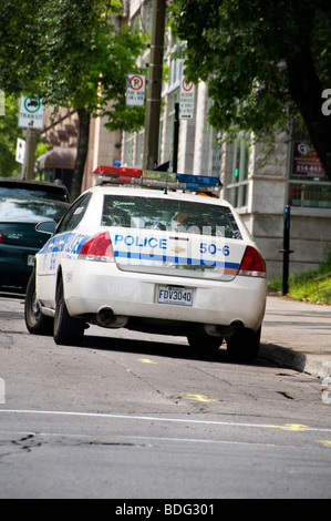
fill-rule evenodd
<path id="1" fill-rule="evenodd" d="M 68 207 L 69 204 L 55 201 L 0 197 L 0 221 L 39 223 L 50 219 L 58 223 Z"/>

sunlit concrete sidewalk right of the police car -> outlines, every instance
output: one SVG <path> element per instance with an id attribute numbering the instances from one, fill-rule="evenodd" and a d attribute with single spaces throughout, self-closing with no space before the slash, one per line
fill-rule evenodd
<path id="1" fill-rule="evenodd" d="M 298 371 L 331 377 L 331 306 L 269 295 L 260 354 Z"/>

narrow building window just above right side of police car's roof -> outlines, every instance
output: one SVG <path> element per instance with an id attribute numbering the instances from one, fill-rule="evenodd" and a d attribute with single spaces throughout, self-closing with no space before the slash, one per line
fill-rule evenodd
<path id="1" fill-rule="evenodd" d="M 235 207 L 248 205 L 249 146 L 249 134 L 239 134 L 229 150 L 227 198 Z"/>

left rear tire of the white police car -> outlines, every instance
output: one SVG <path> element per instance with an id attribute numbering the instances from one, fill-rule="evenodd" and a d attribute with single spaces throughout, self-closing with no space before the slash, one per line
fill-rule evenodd
<path id="1" fill-rule="evenodd" d="M 56 307 L 54 317 L 54 341 L 61 346 L 80 346 L 83 341 L 85 321 L 69 315 L 64 300 L 63 280 L 56 289 Z"/>

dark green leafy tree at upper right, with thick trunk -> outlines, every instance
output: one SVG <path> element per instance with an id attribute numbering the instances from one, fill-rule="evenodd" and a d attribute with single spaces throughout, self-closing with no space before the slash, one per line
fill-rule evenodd
<path id="1" fill-rule="evenodd" d="M 189 79 L 209 84 L 211 124 L 270 137 L 300 114 L 331 180 L 330 1 L 173 0 L 170 17 Z"/>

